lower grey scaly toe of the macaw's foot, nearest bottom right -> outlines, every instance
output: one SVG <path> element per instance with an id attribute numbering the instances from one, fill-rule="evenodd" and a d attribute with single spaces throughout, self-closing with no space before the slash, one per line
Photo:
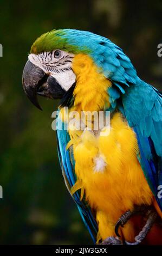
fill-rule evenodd
<path id="1" fill-rule="evenodd" d="M 148 210 L 147 216 L 148 218 L 147 218 L 146 224 L 144 225 L 140 233 L 134 237 L 135 242 L 131 243 L 131 242 L 124 241 L 126 245 L 139 245 L 145 239 L 146 235 L 150 231 L 153 223 L 157 218 L 157 212 L 153 210 Z"/>

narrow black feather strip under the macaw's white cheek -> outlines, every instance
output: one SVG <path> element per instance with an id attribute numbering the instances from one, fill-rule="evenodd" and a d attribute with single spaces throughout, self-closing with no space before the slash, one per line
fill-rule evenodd
<path id="1" fill-rule="evenodd" d="M 67 90 L 67 92 L 63 95 L 61 101 L 60 101 L 60 108 L 61 107 L 72 107 L 74 103 L 74 88 L 75 88 L 76 82 L 73 83 L 73 85 Z"/>

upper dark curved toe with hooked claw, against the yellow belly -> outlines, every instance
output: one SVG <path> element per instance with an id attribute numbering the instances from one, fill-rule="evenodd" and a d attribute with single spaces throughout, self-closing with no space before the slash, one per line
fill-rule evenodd
<path id="1" fill-rule="evenodd" d="M 120 227 L 124 227 L 124 224 L 127 223 L 127 221 L 134 215 L 139 214 L 140 212 L 142 212 L 142 214 L 145 214 L 145 212 L 147 212 L 148 210 L 148 206 L 146 207 L 145 205 L 141 205 L 141 206 L 135 206 L 133 211 L 126 211 L 124 214 L 121 215 L 121 217 L 119 218 L 119 220 L 116 222 L 115 224 L 115 234 L 117 236 L 120 237 L 119 235 L 119 228 Z"/>

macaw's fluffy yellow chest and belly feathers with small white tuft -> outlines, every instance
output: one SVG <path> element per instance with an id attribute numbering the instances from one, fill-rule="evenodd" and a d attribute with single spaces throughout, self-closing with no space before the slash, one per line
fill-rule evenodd
<path id="1" fill-rule="evenodd" d="M 98 236 L 105 239 L 115 235 L 114 225 L 125 211 L 133 210 L 134 205 L 150 205 L 153 200 L 137 159 L 135 133 L 116 113 L 111 119 L 110 132 L 103 128 L 102 135 L 95 136 L 93 131 L 85 130 L 82 134 L 73 131 L 70 137 L 77 176 L 72 193 L 81 189 L 81 200 L 85 194 L 88 204 L 96 211 Z M 128 225 L 124 231 L 130 239 Z M 131 234 L 133 239 L 133 231 Z"/>

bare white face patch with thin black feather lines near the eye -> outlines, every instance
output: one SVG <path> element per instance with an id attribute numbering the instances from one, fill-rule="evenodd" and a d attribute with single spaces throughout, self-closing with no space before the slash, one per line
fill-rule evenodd
<path id="1" fill-rule="evenodd" d="M 31 53 L 28 59 L 46 74 L 53 76 L 60 86 L 67 91 L 76 80 L 76 76 L 72 70 L 74 54 L 61 51 L 61 56 L 56 58 L 54 53 L 55 51 L 42 52 L 40 54 Z"/>

